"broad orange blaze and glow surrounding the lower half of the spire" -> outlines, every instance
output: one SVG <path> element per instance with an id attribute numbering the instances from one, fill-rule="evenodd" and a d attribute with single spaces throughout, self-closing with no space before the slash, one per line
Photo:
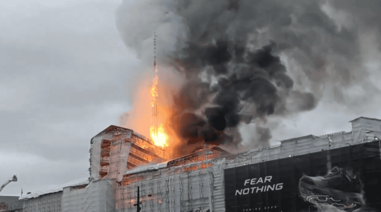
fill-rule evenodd
<path id="1" fill-rule="evenodd" d="M 183 153 L 179 149 L 185 143 L 183 137 L 177 133 L 177 125 L 173 123 L 173 113 L 176 108 L 173 98 L 170 97 L 180 89 L 177 84 L 170 84 L 174 77 L 178 80 L 176 82 L 182 82 L 181 76 L 172 74 L 164 75 L 160 84 L 157 83 L 157 75 L 144 76 L 144 81 L 137 87 L 136 100 L 132 109 L 128 111 L 129 116 L 124 120 L 125 123 L 121 124 L 150 138 L 155 146 L 162 147 L 167 159 L 182 156 Z M 155 116 L 153 109 L 155 109 Z M 185 152 L 188 154 L 187 150 Z"/>

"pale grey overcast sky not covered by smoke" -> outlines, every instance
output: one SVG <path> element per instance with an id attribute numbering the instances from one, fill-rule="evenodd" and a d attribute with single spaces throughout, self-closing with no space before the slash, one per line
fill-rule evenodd
<path id="1" fill-rule="evenodd" d="M 130 85 L 141 80 L 145 54 L 145 48 L 136 46 L 150 45 L 149 37 L 135 48 L 126 45 L 116 24 L 121 2 L 0 2 L 0 184 L 18 177 L 0 195 L 20 195 L 21 189 L 26 194 L 89 176 L 90 139 L 119 125 L 120 116 L 132 107 Z M 324 10 L 338 28 L 346 26 L 346 14 L 330 6 Z M 381 89 L 377 36 L 363 31 L 359 37 L 369 79 Z M 284 64 L 291 66 L 286 60 Z M 322 97 L 314 110 L 277 120 L 272 143 L 350 131 L 348 121 L 360 116 L 381 119 L 381 109 L 353 109 Z M 249 128 L 241 131 L 250 137 Z"/>

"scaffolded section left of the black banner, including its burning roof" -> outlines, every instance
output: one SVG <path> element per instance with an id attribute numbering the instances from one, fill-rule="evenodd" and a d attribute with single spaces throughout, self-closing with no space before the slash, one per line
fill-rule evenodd
<path id="1" fill-rule="evenodd" d="M 138 186 L 143 211 L 191 212 L 211 209 L 213 186 L 221 186 L 214 183 L 213 171 L 218 173 L 218 179 L 222 179 L 222 171 L 217 171 L 221 169 L 222 163 L 214 163 L 211 160 L 226 155 L 228 153 L 224 150 L 212 147 L 166 163 L 127 171 L 115 194 L 127 198 L 116 200 L 116 205 L 121 206 L 117 211 L 136 210 L 135 191 Z M 219 191 L 222 192 L 222 189 Z"/>

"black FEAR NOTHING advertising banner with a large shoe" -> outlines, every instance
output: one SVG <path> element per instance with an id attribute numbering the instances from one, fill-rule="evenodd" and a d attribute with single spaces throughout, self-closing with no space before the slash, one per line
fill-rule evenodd
<path id="1" fill-rule="evenodd" d="M 225 170 L 226 212 L 381 212 L 374 141 Z"/>

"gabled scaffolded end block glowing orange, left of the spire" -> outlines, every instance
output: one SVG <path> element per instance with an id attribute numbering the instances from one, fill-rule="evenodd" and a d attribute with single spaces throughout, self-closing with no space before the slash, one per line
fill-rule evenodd
<path id="1" fill-rule="evenodd" d="M 112 125 L 91 139 L 90 178 L 121 181 L 127 170 L 166 158 L 164 150 L 150 139 Z"/>

